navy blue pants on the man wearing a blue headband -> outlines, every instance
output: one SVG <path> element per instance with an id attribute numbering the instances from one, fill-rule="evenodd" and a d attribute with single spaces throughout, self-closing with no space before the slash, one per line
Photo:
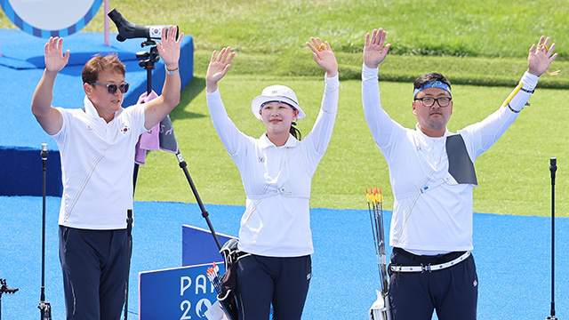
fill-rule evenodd
<path id="1" fill-rule="evenodd" d="M 453 252 L 445 256 L 429 256 L 425 265 L 444 263 L 461 256 Z M 420 266 L 416 256 L 394 248 L 391 264 Z M 421 259 L 422 258 L 422 259 Z M 474 257 L 442 270 L 393 273 L 389 277 L 389 299 L 394 320 L 430 320 L 433 310 L 439 320 L 477 318 L 478 276 Z"/>

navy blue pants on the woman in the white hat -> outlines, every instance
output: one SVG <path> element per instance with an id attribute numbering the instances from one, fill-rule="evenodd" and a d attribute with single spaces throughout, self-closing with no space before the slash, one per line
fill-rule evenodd
<path id="1" fill-rule="evenodd" d="M 237 263 L 239 320 L 301 319 L 309 292 L 310 256 L 293 258 L 251 255 Z"/>

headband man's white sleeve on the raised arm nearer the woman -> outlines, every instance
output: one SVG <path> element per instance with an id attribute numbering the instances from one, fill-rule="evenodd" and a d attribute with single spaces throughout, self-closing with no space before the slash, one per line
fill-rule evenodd
<path id="1" fill-rule="evenodd" d="M 372 132 L 373 140 L 378 147 L 388 145 L 394 125 L 387 112 L 381 108 L 380 84 L 378 83 L 378 68 L 362 70 L 362 102 L 364 104 L 365 121 Z"/>

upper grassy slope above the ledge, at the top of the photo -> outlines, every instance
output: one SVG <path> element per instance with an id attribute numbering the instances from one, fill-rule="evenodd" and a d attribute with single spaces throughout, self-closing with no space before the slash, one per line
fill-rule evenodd
<path id="1" fill-rule="evenodd" d="M 379 27 L 388 30 L 393 44 L 384 67 L 389 81 L 409 82 L 437 70 L 454 84 L 511 86 L 516 71 L 525 68 L 527 49 L 541 35 L 560 44 L 552 68 L 569 70 L 565 0 L 111 0 L 110 7 L 134 23 L 174 23 L 193 36 L 196 75 L 202 75 L 214 49 L 231 45 L 242 61 L 234 73 L 314 76 L 319 70 L 304 59 L 310 56 L 305 42 L 320 36 L 337 53 L 342 79 L 358 79 L 365 33 Z M 102 12 L 84 30 L 100 32 Z M 6 21 L 3 12 L 0 21 Z M 569 71 L 540 85 L 568 88 Z"/>

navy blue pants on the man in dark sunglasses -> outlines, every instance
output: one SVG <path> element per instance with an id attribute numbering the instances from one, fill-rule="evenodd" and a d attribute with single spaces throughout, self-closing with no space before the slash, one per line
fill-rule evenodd
<path id="1" fill-rule="evenodd" d="M 130 266 L 126 229 L 60 226 L 60 262 L 67 319 L 118 320 Z"/>

